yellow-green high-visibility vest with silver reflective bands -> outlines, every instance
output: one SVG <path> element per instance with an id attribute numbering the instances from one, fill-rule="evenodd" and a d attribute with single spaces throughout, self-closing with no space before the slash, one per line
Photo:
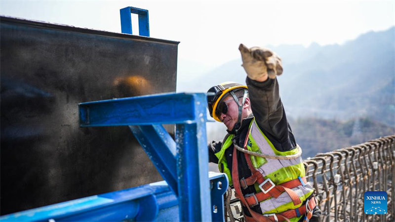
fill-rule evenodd
<path id="1" fill-rule="evenodd" d="M 218 168 L 220 172 L 226 173 L 230 185 L 233 184 L 233 180 L 239 180 L 238 178 L 232 178 L 232 172 L 228 168 L 228 163 L 225 158 L 225 150 L 232 145 L 233 135 L 227 135 L 224 139 L 224 143 L 219 152 L 215 153 L 218 157 Z M 278 151 L 265 136 L 265 134 L 259 129 L 255 118 L 251 121 L 248 130 L 247 149 L 253 152 L 263 153 L 267 155 L 278 155 L 287 156 L 294 155 L 299 152 L 298 148 L 294 148 L 289 151 Z M 295 159 L 272 159 L 264 158 L 260 156 L 248 155 L 254 168 L 259 171 L 262 176 L 273 182 L 274 185 L 281 185 L 286 182 L 298 180 L 305 176 L 305 168 L 302 157 Z M 299 196 L 300 204 L 294 205 L 290 195 L 286 192 L 281 193 L 277 198 L 271 197 L 261 201 L 260 207 L 262 214 L 279 214 L 281 212 L 296 209 L 302 206 L 302 202 L 312 195 L 314 188 L 310 183 L 306 182 L 303 185 L 293 187 L 292 190 Z M 258 183 L 254 184 L 257 193 L 262 192 Z M 247 206 L 248 207 L 248 206 Z M 297 222 L 302 216 L 290 219 L 290 221 Z"/>

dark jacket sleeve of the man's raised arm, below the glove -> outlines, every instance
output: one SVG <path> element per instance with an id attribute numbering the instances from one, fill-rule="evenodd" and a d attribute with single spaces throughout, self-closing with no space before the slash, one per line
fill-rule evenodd
<path id="1" fill-rule="evenodd" d="M 277 79 L 258 82 L 247 77 L 246 83 L 255 120 L 269 140 L 276 140 L 275 148 L 288 151 L 296 148 L 295 138 L 281 103 Z M 277 146 L 276 146 L 277 145 Z"/>

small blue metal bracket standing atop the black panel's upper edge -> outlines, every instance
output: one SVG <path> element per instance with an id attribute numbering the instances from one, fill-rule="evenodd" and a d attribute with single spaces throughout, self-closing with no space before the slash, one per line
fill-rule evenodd
<path id="1" fill-rule="evenodd" d="M 139 35 L 150 37 L 150 22 L 148 18 L 148 10 L 129 6 L 120 9 L 119 12 L 122 33 L 133 34 L 131 16 L 131 13 L 133 13 L 139 15 Z"/>

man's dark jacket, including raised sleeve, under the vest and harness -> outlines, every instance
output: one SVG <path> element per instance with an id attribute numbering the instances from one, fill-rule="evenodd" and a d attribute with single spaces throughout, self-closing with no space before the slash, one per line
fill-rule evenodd
<path id="1" fill-rule="evenodd" d="M 237 143 L 239 147 L 244 146 L 243 143 L 248 133 L 248 126 L 255 116 L 259 128 L 278 151 L 288 151 L 296 148 L 296 141 L 287 121 L 279 96 L 277 80 L 268 78 L 268 80 L 264 82 L 257 82 L 247 77 L 246 83 L 253 115 L 243 119 L 240 129 L 233 139 L 234 143 Z M 228 131 L 228 133 L 230 132 Z M 218 158 L 214 153 L 221 150 L 223 142 L 224 141 L 213 141 L 208 146 L 210 162 L 218 164 Z M 233 149 L 234 146 L 232 144 L 231 147 L 225 151 L 226 161 L 231 172 Z M 245 160 L 244 153 L 238 150 L 236 153 L 239 179 L 250 177 L 251 171 Z M 248 186 L 247 189 L 241 189 L 241 191 L 244 195 L 256 192 L 254 185 Z M 254 207 L 254 211 L 262 213 L 259 205 Z M 243 212 L 247 214 L 247 216 L 250 216 L 248 210 L 245 209 L 244 206 Z"/>

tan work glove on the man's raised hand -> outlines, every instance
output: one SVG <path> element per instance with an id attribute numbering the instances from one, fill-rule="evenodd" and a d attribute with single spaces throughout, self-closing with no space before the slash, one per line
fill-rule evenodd
<path id="1" fill-rule="evenodd" d="M 276 75 L 282 74 L 281 59 L 270 49 L 261 47 L 247 48 L 240 44 L 241 58 L 245 72 L 253 80 L 262 80 L 276 78 Z"/>

